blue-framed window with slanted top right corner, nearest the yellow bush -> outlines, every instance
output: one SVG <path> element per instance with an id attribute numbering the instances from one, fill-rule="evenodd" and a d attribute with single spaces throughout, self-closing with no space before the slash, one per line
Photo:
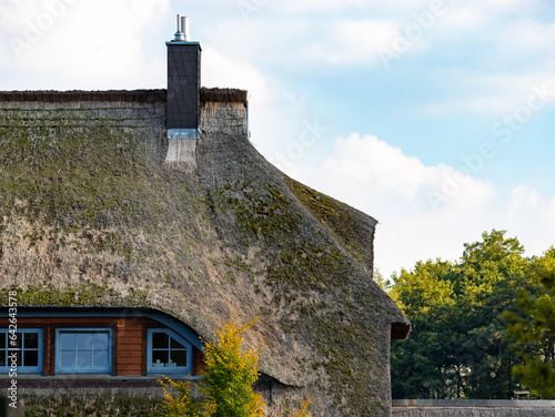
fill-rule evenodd
<path id="1" fill-rule="evenodd" d="M 169 328 L 149 328 L 147 343 L 149 374 L 191 374 L 192 346 Z"/>

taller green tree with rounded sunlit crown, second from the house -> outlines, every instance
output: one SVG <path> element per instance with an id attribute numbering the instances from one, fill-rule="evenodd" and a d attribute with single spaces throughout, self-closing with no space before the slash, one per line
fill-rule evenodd
<path id="1" fill-rule="evenodd" d="M 465 367 L 467 398 L 509 398 L 515 389 L 511 368 L 518 360 L 511 350 L 502 314 L 516 308 L 519 289 L 528 288 L 529 263 L 524 247 L 505 232 L 484 233 L 464 245 L 456 283 L 460 299 L 458 350 Z"/>

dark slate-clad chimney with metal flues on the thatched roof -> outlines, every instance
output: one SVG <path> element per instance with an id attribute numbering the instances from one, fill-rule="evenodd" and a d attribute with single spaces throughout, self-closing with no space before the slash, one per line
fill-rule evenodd
<path id="1" fill-rule="evenodd" d="M 192 42 L 189 18 L 178 14 L 175 38 L 168 45 L 167 128 L 169 150 L 167 162 L 184 162 L 183 151 L 195 143 L 183 141 L 200 138 L 201 45 Z M 196 142 L 196 141 L 194 141 Z M 188 151 L 189 152 L 189 151 Z"/>

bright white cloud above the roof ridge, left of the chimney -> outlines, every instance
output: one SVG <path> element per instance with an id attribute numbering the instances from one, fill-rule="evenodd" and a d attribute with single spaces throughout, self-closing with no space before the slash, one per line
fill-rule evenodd
<path id="1" fill-rule="evenodd" d="M 14 23 L 2 24 L 2 67 L 40 67 L 40 79 L 19 80 L 24 82 L 19 89 L 162 87 L 165 64 L 150 57 L 144 44 L 169 8 L 169 0 L 13 3 L 3 16 Z"/>

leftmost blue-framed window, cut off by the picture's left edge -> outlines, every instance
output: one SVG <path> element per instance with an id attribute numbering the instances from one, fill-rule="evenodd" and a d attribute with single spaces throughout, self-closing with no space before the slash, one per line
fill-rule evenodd
<path id="1" fill-rule="evenodd" d="M 42 373 L 42 328 L 18 328 L 17 333 L 0 328 L 0 373 Z"/>

